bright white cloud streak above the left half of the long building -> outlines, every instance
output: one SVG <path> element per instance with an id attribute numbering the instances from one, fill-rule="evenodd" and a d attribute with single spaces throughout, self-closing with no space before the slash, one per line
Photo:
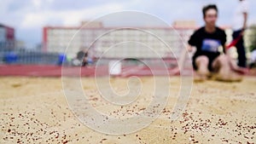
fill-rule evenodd
<path id="1" fill-rule="evenodd" d="M 38 3 L 36 4 L 38 6 Z M 108 14 L 109 12 L 120 11 L 123 6 L 118 3 L 110 3 L 100 7 L 90 9 L 73 9 L 65 11 L 55 11 L 54 9 L 47 11 L 38 11 L 25 14 L 24 19 L 20 22 L 20 28 L 34 28 L 45 25 L 54 25 L 54 21 L 60 21 L 58 25 L 74 26 L 79 25 L 81 20 L 91 20 L 98 15 Z"/>

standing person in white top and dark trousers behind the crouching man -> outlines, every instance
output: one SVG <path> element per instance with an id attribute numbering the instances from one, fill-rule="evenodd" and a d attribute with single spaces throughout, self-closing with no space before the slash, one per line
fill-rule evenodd
<path id="1" fill-rule="evenodd" d="M 236 11 L 233 18 L 233 39 L 241 37 L 236 43 L 236 50 L 238 54 L 238 66 L 246 67 L 247 58 L 246 50 L 244 47 L 243 35 L 247 28 L 247 14 L 248 14 L 248 3 L 247 0 L 239 0 L 236 7 Z"/>

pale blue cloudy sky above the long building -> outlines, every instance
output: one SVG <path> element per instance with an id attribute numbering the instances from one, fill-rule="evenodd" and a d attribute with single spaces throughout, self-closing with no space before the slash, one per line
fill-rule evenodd
<path id="1" fill-rule="evenodd" d="M 247 1 L 249 24 L 254 24 L 256 1 Z M 170 25 L 174 20 L 195 20 L 202 26 L 201 8 L 209 3 L 218 6 L 218 26 L 230 26 L 238 0 L 5 0 L 0 23 L 14 27 L 17 40 L 36 45 L 42 42 L 44 26 L 79 26 L 81 20 L 124 10 L 153 14 Z"/>

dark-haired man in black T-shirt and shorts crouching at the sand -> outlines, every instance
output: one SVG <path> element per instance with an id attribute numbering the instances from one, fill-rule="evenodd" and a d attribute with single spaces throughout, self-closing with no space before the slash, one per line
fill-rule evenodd
<path id="1" fill-rule="evenodd" d="M 218 8 L 216 5 L 207 5 L 202 9 L 205 26 L 194 32 L 189 39 L 188 50 L 195 46 L 193 56 L 193 67 L 196 71 L 195 80 L 206 80 L 212 74 L 221 81 L 240 81 L 238 75 L 231 65 L 227 55 L 218 52 L 219 47 L 224 48 L 226 34 L 224 30 L 216 26 L 218 19 Z M 225 53 L 225 50 L 224 50 Z"/>

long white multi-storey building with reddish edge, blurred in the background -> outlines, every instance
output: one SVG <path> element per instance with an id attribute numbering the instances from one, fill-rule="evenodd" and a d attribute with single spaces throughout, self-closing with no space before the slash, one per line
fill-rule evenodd
<path id="1" fill-rule="evenodd" d="M 84 23 L 82 23 L 84 24 Z M 80 49 L 105 58 L 156 58 L 176 54 L 184 48 L 195 26 L 172 27 L 44 27 L 44 51 L 75 57 Z M 67 50 L 67 51 L 66 51 Z M 173 55 L 172 55 L 173 56 Z"/>

